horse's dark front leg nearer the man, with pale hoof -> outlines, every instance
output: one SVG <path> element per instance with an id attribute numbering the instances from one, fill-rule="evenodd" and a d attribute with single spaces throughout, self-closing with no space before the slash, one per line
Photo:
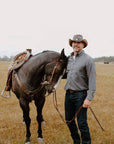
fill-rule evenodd
<path id="1" fill-rule="evenodd" d="M 42 121 L 43 116 L 42 116 L 42 109 L 45 103 L 45 97 L 42 97 L 39 100 L 35 100 L 35 105 L 37 108 L 37 121 L 38 121 L 38 142 L 43 142 L 43 136 L 42 136 Z"/>

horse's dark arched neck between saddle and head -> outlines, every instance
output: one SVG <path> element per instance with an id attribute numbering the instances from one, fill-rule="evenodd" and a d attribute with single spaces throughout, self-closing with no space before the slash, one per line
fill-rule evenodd
<path id="1" fill-rule="evenodd" d="M 27 61 L 19 71 L 22 83 L 35 87 L 41 83 L 44 76 L 45 65 L 57 59 L 57 54 L 44 54 L 33 56 Z"/>

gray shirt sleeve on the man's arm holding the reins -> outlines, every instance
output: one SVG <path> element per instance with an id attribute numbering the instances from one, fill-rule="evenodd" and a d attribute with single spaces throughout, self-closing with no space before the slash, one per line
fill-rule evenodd
<path id="1" fill-rule="evenodd" d="M 94 97 L 94 93 L 96 91 L 96 68 L 94 60 L 91 58 L 86 65 L 86 71 L 88 76 L 88 86 L 89 86 L 89 92 L 87 95 L 88 100 L 92 100 Z"/>

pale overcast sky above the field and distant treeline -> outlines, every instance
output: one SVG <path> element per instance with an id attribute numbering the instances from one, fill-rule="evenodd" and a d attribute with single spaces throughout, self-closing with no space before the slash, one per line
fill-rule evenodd
<path id="1" fill-rule="evenodd" d="M 26 48 L 68 55 L 74 34 L 93 58 L 114 56 L 114 0 L 0 0 L 0 56 Z"/>

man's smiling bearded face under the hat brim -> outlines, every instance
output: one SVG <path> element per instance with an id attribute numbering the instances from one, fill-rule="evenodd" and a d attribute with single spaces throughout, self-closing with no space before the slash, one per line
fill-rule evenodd
<path id="1" fill-rule="evenodd" d="M 74 52 L 81 52 L 82 49 L 84 48 L 84 43 L 82 42 L 72 42 L 72 48 Z"/>

